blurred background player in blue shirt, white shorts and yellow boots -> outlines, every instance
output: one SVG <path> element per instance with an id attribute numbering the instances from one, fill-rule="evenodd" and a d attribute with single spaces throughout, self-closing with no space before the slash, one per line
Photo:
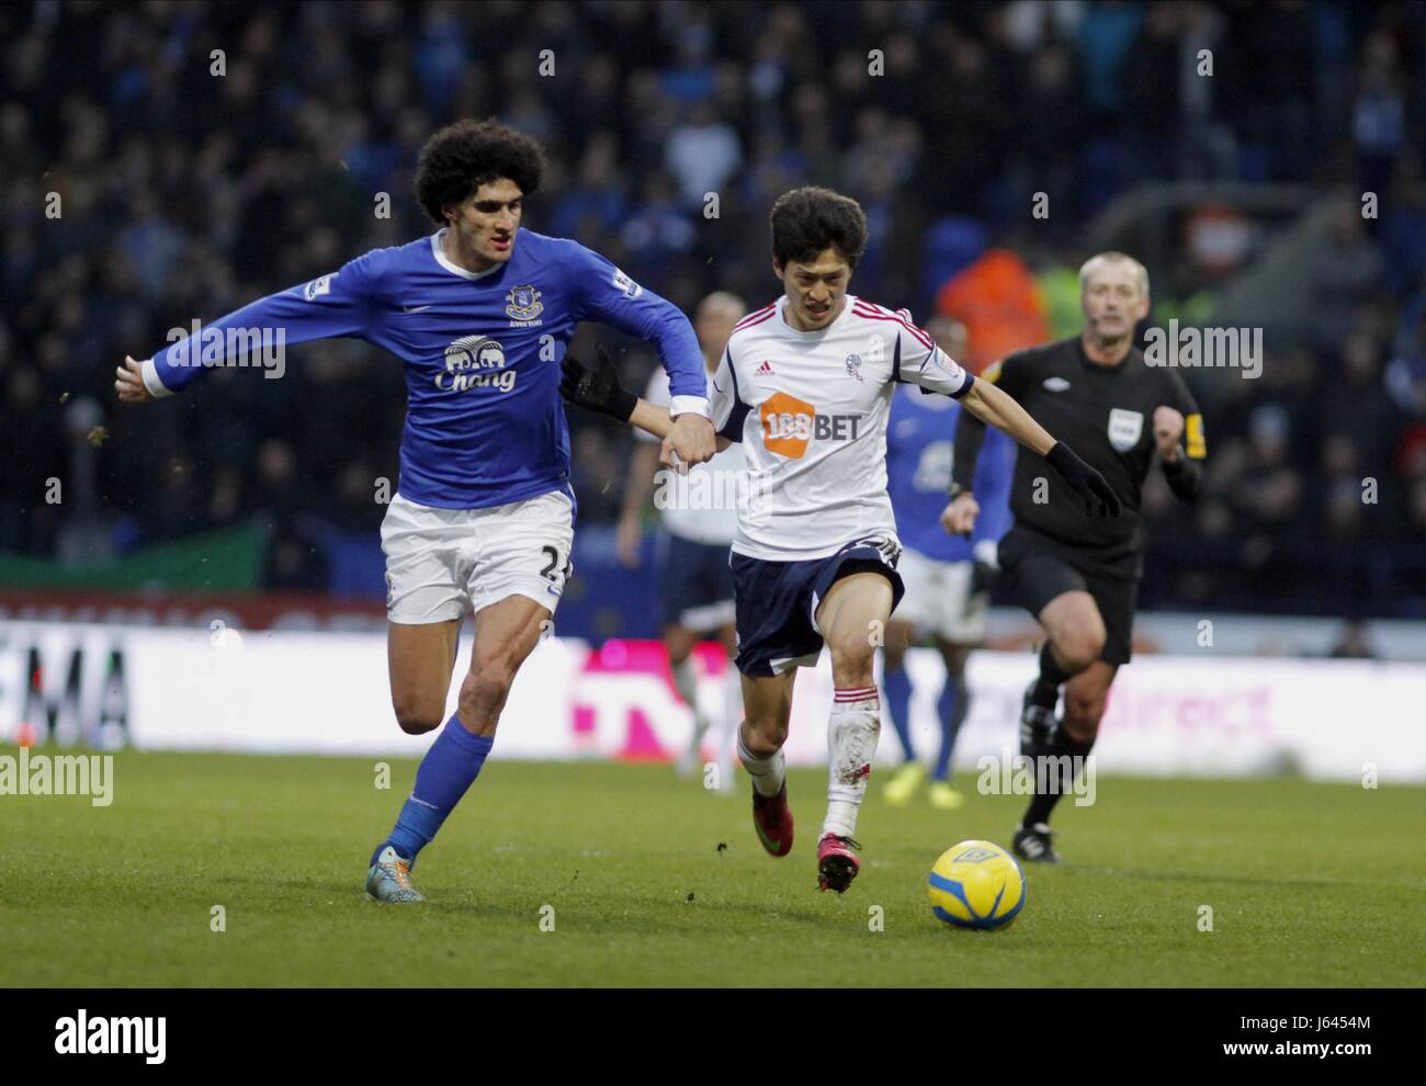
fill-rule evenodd
<path id="1" fill-rule="evenodd" d="M 925 331 L 951 358 L 967 356 L 965 326 L 958 321 L 935 316 Z M 948 534 L 941 513 L 951 487 L 960 415 L 957 400 L 903 385 L 891 400 L 887 426 L 887 490 L 904 547 L 897 570 L 906 581 L 906 597 L 887 623 L 881 686 L 906 761 L 891 775 L 884 795 L 888 802 L 904 804 L 925 778 L 925 767 L 911 745 L 911 678 L 904 661 L 907 646 L 930 637 L 945 664 L 945 683 L 935 703 L 941 741 L 927 790 L 931 805 L 941 810 L 964 802 L 951 787 L 950 771 L 955 735 L 970 710 L 965 657 L 985 640 L 985 572 L 994 569 L 995 542 L 1010 527 L 1015 463 L 1014 442 L 987 429 L 975 473 L 975 493 L 983 502 L 975 530 L 970 539 Z"/>

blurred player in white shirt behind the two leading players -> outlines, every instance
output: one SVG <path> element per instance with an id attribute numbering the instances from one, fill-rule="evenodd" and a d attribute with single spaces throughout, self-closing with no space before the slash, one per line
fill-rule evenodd
<path id="1" fill-rule="evenodd" d="M 727 291 L 716 291 L 699 302 L 693 314 L 693 331 L 709 375 L 717 369 L 727 338 L 746 312 L 743 299 Z M 653 371 L 643 398 L 660 408 L 669 406 L 669 375 L 663 369 Z M 679 758 L 677 768 L 683 775 L 694 771 L 703 737 L 713 724 L 710 714 L 699 707 L 699 676 L 693 661 L 693 647 L 713 634 L 723 643 L 729 658 L 723 704 L 717 714 L 722 730 L 716 743 L 719 781 L 727 792 L 732 770 L 729 740 L 743 715 L 737 670 L 732 666 L 737 641 L 733 636 L 733 574 L 727 567 L 727 549 L 737 534 L 737 505 L 730 499 L 739 493 L 737 477 L 743 470 L 743 455 L 736 449 L 726 449 L 679 476 L 666 467 L 660 472 L 657 438 L 645 430 L 635 430 L 635 438 L 639 445 L 629 463 L 629 480 L 619 516 L 619 560 L 625 566 L 639 564 L 639 543 L 643 539 L 640 522 L 652 493 L 663 520 L 659 536 L 663 646 L 669 653 L 673 687 L 693 711 L 693 737 Z"/>

